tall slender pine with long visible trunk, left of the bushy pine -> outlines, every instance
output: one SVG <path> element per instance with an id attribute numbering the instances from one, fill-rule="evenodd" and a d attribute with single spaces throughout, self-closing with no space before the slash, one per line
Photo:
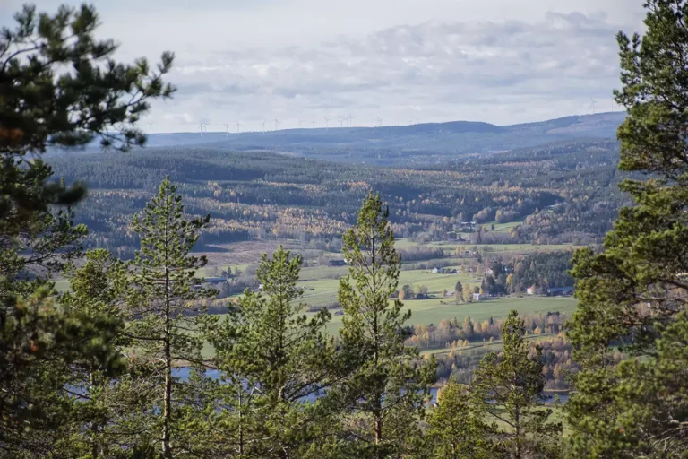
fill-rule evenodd
<path id="1" fill-rule="evenodd" d="M 141 238 L 127 292 L 127 312 L 131 323 L 127 335 L 133 340 L 133 352 L 150 371 L 150 428 L 159 430 L 160 456 L 173 456 L 176 429 L 175 394 L 184 383 L 173 377 L 172 369 L 180 362 L 202 368 L 202 336 L 198 332 L 202 312 L 199 300 L 209 298 L 213 290 L 196 286 L 198 268 L 206 264 L 204 256 L 190 255 L 199 232 L 210 221 L 187 219 L 182 196 L 165 178 L 141 215 L 133 219 L 133 230 Z M 146 368 L 144 367 L 144 368 Z"/>

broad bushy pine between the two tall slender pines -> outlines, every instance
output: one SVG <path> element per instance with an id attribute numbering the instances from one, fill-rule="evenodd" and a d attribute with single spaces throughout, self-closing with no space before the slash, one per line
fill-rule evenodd
<path id="1" fill-rule="evenodd" d="M 224 324 L 211 318 L 205 326 L 224 383 L 204 428 L 223 438 L 213 454 L 303 457 L 323 440 L 331 418 L 326 392 L 340 373 L 326 333 L 330 313 L 308 318 L 299 301 L 301 264 L 281 246 L 263 255 L 264 293 L 246 290 Z"/>

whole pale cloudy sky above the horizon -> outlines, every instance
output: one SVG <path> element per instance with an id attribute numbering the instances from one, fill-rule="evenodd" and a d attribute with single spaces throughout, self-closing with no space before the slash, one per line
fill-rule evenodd
<path id="1" fill-rule="evenodd" d="M 35 2 L 55 11 L 72 0 Z M 440 122 L 499 125 L 615 108 L 615 33 L 642 0 L 95 0 L 117 58 L 176 53 L 154 132 Z M 0 24 L 21 1 L 0 0 Z M 416 121 L 414 121 L 416 122 Z M 146 129 L 148 126 L 146 125 Z M 230 126 L 236 131 L 236 126 Z"/>

